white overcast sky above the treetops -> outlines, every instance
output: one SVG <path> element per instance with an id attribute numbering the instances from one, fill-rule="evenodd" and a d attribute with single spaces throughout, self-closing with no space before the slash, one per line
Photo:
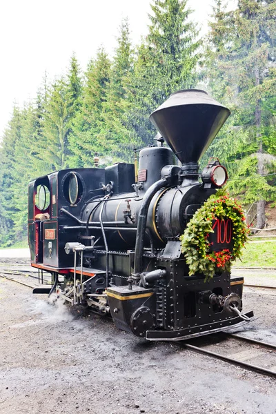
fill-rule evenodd
<path id="1" fill-rule="evenodd" d="M 205 33 L 212 0 L 188 0 Z M 45 71 L 66 70 L 72 52 L 82 69 L 103 44 L 111 55 L 128 17 L 134 44 L 147 32 L 150 0 L 0 0 L 0 139 L 14 102 L 36 96 Z"/>

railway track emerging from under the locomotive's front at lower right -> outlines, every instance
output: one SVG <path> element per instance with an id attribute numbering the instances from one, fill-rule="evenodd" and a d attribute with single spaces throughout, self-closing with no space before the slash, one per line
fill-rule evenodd
<path id="1" fill-rule="evenodd" d="M 252 345 L 250 348 L 248 343 Z M 195 338 L 182 346 L 276 378 L 276 346 L 273 344 L 233 333 L 221 333 Z"/>

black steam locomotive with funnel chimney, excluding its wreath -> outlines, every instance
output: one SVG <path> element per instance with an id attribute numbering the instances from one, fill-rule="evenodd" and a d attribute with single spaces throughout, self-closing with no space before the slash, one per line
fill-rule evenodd
<path id="1" fill-rule="evenodd" d="M 179 241 L 226 182 L 219 161 L 201 175 L 198 161 L 229 115 L 202 90 L 175 92 L 150 115 L 159 145 L 139 152 L 139 168 L 67 169 L 32 181 L 28 241 L 32 266 L 52 275 L 47 293 L 109 313 L 118 328 L 149 340 L 181 340 L 250 320 L 253 312 L 241 313 L 243 277 L 189 276 Z M 232 248 L 231 234 L 213 240 L 211 250 Z"/>

